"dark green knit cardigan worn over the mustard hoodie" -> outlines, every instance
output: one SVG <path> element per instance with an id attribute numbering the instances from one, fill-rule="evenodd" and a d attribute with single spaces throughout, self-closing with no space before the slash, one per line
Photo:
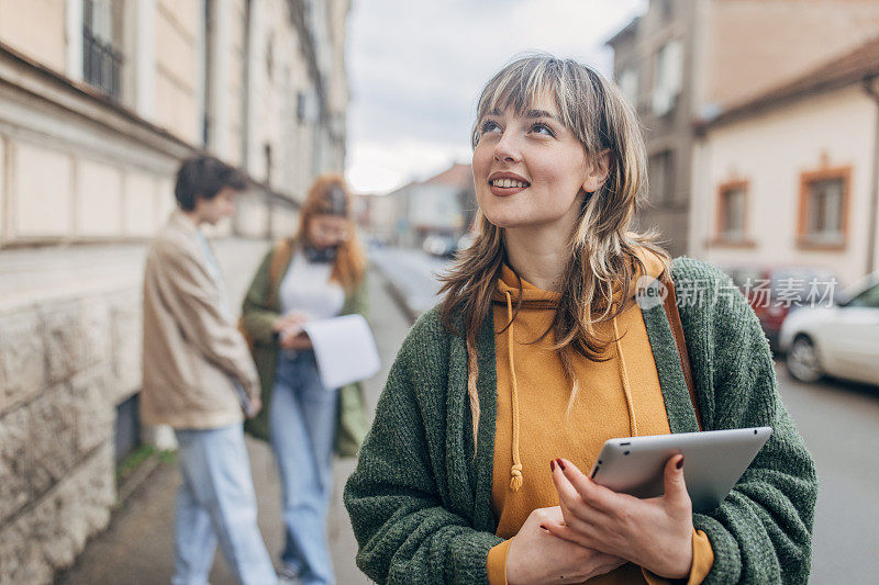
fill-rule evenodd
<path id="1" fill-rule="evenodd" d="M 711 514 L 693 514 L 714 551 L 704 583 L 805 583 L 817 480 L 778 394 L 759 322 L 730 279 L 679 258 L 671 275 L 705 430 L 771 426 L 759 454 Z M 698 430 L 661 305 L 643 311 L 671 432 Z M 478 342 L 481 415 L 474 459 L 467 351 L 436 308 L 412 327 L 388 375 L 344 500 L 357 566 L 379 583 L 488 583 L 497 409 L 492 319 Z M 586 423 L 585 423 L 586 424 Z"/>

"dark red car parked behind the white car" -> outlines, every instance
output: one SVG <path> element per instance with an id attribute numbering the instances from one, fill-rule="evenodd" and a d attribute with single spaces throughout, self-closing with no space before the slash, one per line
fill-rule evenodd
<path id="1" fill-rule="evenodd" d="M 832 270 L 811 267 L 722 267 L 742 290 L 772 350 L 789 314 L 802 306 L 830 305 L 838 291 Z"/>

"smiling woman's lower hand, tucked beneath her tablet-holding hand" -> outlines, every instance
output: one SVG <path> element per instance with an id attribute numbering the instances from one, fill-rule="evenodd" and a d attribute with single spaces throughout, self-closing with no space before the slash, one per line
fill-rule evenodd
<path id="1" fill-rule="evenodd" d="M 556 538 L 543 526 L 561 524 L 561 509 L 537 508 L 519 529 L 507 552 L 507 582 L 582 583 L 625 564 L 625 560 Z"/>

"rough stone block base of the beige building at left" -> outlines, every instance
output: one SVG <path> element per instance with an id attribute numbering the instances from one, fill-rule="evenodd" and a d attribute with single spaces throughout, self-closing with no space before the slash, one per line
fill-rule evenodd
<path id="1" fill-rule="evenodd" d="M 135 300 L 127 290 L 0 314 L 0 583 L 47 581 L 107 526 L 114 406 L 138 384 L 125 356 L 140 342 Z"/>

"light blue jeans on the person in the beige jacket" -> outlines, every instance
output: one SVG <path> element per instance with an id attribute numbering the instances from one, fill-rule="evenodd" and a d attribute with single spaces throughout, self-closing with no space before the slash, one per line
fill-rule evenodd
<path id="1" fill-rule="evenodd" d="M 173 585 L 204 585 L 219 540 L 243 585 L 278 577 L 256 525 L 256 495 L 242 425 L 177 429 L 182 483 L 174 526 Z"/>

